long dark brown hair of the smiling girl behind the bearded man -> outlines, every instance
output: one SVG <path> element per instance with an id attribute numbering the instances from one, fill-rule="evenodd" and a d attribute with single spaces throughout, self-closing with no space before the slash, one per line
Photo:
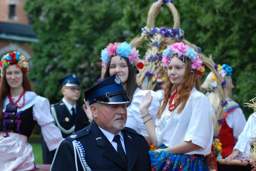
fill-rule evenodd
<path id="1" fill-rule="evenodd" d="M 138 84 L 136 83 L 136 73 L 137 73 L 137 68 L 133 67 L 132 65 L 129 64 L 129 59 L 126 57 L 122 57 L 123 59 L 125 59 L 127 66 L 128 66 L 128 78 L 127 78 L 127 83 L 126 83 L 126 90 L 128 92 L 128 97 L 131 99 L 131 101 L 133 100 L 133 94 L 136 90 L 138 86 Z M 111 59 L 110 58 L 107 67 L 106 67 L 106 72 L 104 74 L 103 79 L 106 79 L 107 77 L 110 76 L 109 74 L 109 67 L 110 67 L 110 63 L 111 63 Z M 129 106 L 131 103 L 129 103 L 127 106 Z"/>

